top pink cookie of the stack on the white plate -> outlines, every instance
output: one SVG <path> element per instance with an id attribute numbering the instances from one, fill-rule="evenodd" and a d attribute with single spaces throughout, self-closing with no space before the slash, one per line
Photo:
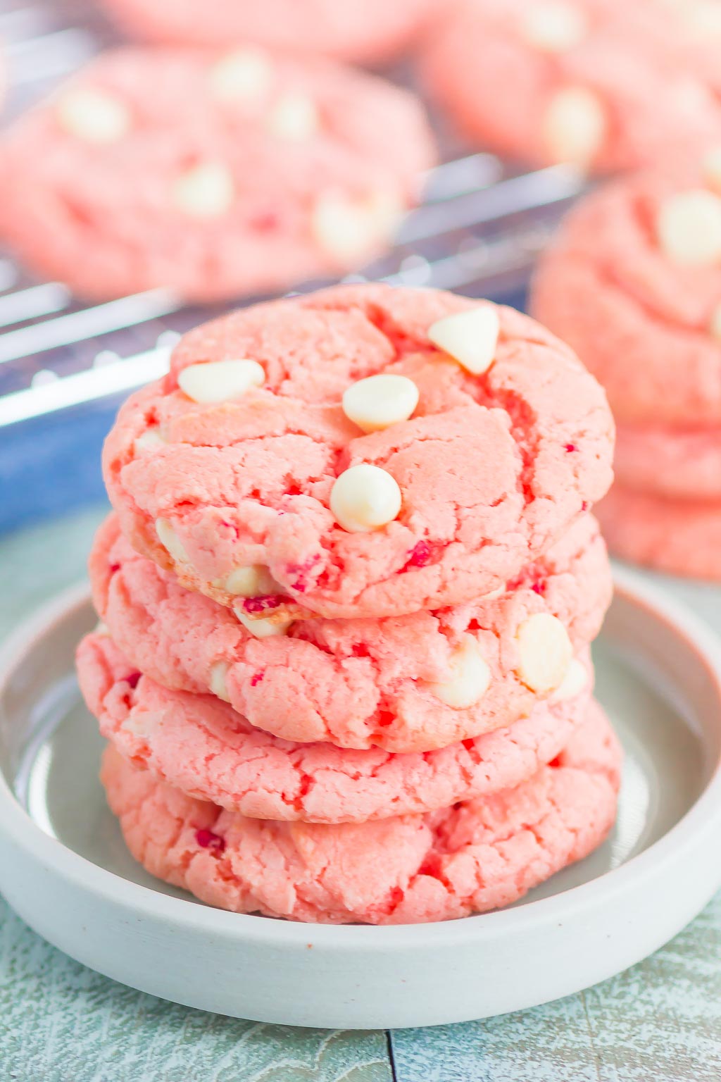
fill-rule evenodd
<path id="1" fill-rule="evenodd" d="M 187 334 L 104 474 L 133 546 L 188 589 L 250 619 L 382 617 L 505 588 L 605 492 L 612 445 L 603 392 L 526 316 L 348 286 Z"/>

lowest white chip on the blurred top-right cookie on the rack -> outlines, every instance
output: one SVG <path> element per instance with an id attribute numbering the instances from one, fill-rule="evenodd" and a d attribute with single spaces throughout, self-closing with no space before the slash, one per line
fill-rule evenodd
<path id="1" fill-rule="evenodd" d="M 585 169 L 606 133 L 602 103 L 586 87 L 565 87 L 551 97 L 543 120 L 543 141 L 551 161 Z"/>

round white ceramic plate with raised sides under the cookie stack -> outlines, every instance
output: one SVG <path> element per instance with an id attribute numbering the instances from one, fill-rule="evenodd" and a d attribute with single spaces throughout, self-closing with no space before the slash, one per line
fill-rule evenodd
<path id="1" fill-rule="evenodd" d="M 241 916 L 147 875 L 105 805 L 102 742 L 72 676 L 94 621 L 84 588 L 65 594 L 0 662 L 0 888 L 40 935 L 116 980 L 259 1021 L 462 1021 L 617 973 L 721 883 L 721 645 L 637 575 L 619 575 L 596 648 L 626 749 L 611 839 L 508 910 L 432 925 Z"/>

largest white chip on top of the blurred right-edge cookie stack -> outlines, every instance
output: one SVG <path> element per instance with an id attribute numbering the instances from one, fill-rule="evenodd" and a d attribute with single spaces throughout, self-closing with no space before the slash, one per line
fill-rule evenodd
<path id="1" fill-rule="evenodd" d="M 664 253 L 681 266 L 721 260 L 721 198 L 706 188 L 679 192 L 663 203 L 656 233 Z"/>

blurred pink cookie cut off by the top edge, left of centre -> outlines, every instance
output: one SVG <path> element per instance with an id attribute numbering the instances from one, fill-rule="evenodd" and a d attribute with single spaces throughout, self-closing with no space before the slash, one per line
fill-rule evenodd
<path id="1" fill-rule="evenodd" d="M 147 41 L 225 47 L 249 41 L 355 63 L 387 61 L 409 47 L 438 0 L 104 0 Z"/>

